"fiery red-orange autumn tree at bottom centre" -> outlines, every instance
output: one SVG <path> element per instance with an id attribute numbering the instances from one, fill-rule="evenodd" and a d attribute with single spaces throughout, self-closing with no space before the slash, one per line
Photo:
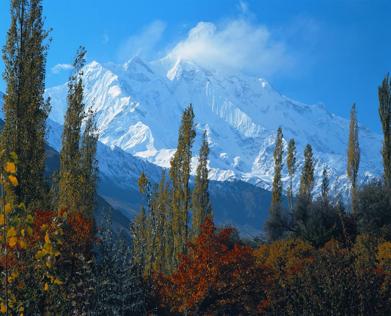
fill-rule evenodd
<path id="1" fill-rule="evenodd" d="M 249 314 L 264 303 L 269 275 L 256 265 L 251 248 L 235 244 L 228 250 L 233 228 L 215 233 L 212 219 L 202 233 L 188 242 L 188 255 L 180 255 L 178 273 L 156 274 L 154 291 L 161 307 L 171 314 Z"/>

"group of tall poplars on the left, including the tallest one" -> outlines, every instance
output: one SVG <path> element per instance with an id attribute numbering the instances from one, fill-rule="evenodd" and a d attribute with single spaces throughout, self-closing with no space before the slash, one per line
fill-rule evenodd
<path id="1" fill-rule="evenodd" d="M 11 26 L 2 48 L 6 87 L 5 126 L 1 135 L 3 154 L 15 152 L 19 185 L 5 194 L 5 203 L 24 202 L 27 213 L 34 210 L 62 209 L 83 211 L 92 218 L 97 208 L 99 178 L 95 113 L 87 114 L 83 103 L 84 48 L 77 51 L 68 82 L 67 110 L 62 133 L 61 169 L 53 181 L 45 170 L 50 98 L 44 99 L 45 64 L 51 38 L 43 27 L 41 0 L 11 1 Z M 84 123 L 83 123 L 84 122 Z M 81 127 L 84 132 L 81 135 Z M 51 187 L 51 189 L 50 189 Z"/>

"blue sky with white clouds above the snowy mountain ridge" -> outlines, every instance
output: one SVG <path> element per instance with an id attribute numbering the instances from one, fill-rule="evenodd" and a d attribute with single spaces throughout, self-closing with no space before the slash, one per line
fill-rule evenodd
<path id="1" fill-rule="evenodd" d="M 87 62 L 153 61 L 172 53 L 264 78 L 287 97 L 381 134 L 377 86 L 391 71 L 391 2 L 43 0 L 53 28 L 46 86 L 67 81 L 79 45 Z M 0 1 L 0 44 L 9 28 Z M 0 61 L 0 69 L 4 64 Z M 0 81 L 0 90 L 5 83 Z M 189 100 L 191 102 L 191 100 Z"/>

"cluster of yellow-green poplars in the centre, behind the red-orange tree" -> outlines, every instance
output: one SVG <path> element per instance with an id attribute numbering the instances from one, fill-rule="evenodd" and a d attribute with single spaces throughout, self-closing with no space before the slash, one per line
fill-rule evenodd
<path id="1" fill-rule="evenodd" d="M 178 135 L 178 147 L 170 160 L 170 169 L 161 173 L 161 180 L 152 190 L 146 174 L 138 180 L 143 194 L 141 214 L 131 224 L 135 260 L 151 276 L 153 271 L 166 275 L 176 272 L 180 256 L 187 253 L 187 243 L 193 241 L 205 219 L 213 217 L 208 193 L 209 147 L 206 131 L 202 136 L 194 189 L 190 189 L 192 145 L 195 124 L 192 104 L 183 111 Z M 149 215 L 144 206 L 146 197 Z M 189 227 L 190 212 L 192 226 Z"/>

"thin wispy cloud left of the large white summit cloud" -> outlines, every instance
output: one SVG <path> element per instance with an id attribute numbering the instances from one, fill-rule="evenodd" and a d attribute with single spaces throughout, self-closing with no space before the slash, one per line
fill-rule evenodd
<path id="1" fill-rule="evenodd" d="M 143 58 L 149 57 L 156 43 L 161 39 L 165 24 L 159 20 L 147 25 L 140 35 L 129 37 L 118 50 L 118 57 L 122 61 L 129 60 L 136 54 Z"/>

